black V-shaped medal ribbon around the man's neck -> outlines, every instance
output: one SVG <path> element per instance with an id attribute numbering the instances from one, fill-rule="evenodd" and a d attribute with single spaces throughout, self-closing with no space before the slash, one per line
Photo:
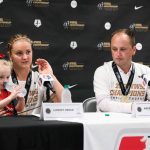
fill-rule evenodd
<path id="1" fill-rule="evenodd" d="M 117 65 L 113 62 L 112 63 L 112 68 L 114 70 L 114 73 L 116 75 L 116 78 L 119 82 L 119 86 L 121 88 L 121 92 L 123 95 L 128 95 L 129 91 L 130 91 L 130 88 L 131 88 L 131 85 L 132 85 L 132 82 L 133 82 L 133 78 L 134 78 L 134 74 L 135 74 L 135 68 L 134 68 L 134 65 L 132 65 L 132 70 L 131 70 L 131 74 L 130 74 L 130 77 L 128 79 L 128 83 L 126 85 L 126 87 L 124 87 L 124 84 L 123 84 L 123 81 L 122 81 L 122 78 L 121 78 L 121 75 L 119 73 L 119 70 L 117 68 Z"/>

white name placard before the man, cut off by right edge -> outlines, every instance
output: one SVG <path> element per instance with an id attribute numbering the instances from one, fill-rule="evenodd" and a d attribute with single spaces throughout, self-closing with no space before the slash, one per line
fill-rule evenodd
<path id="1" fill-rule="evenodd" d="M 133 117 L 150 117 L 150 102 L 135 102 L 132 106 Z"/>

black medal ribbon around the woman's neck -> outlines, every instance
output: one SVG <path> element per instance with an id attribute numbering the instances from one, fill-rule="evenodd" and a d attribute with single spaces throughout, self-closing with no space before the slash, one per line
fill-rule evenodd
<path id="1" fill-rule="evenodd" d="M 16 73 L 15 73 L 14 70 L 11 73 L 11 77 L 12 77 L 13 83 L 19 84 L 18 80 L 17 80 Z M 24 97 L 25 98 L 25 103 L 27 102 L 27 97 L 28 97 L 28 94 L 29 94 L 30 86 L 31 86 L 31 80 L 32 80 L 32 71 L 29 72 L 29 74 L 27 76 L 27 79 L 26 79 L 25 89 L 27 90 L 27 94 Z"/>

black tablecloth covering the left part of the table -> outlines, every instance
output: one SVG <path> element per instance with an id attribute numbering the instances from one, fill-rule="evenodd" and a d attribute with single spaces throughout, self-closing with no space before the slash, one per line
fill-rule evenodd
<path id="1" fill-rule="evenodd" d="M 83 150 L 82 123 L 35 116 L 0 118 L 0 150 Z"/>

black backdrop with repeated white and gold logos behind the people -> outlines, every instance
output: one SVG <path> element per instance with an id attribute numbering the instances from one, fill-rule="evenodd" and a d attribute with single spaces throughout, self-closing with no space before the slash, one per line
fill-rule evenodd
<path id="1" fill-rule="evenodd" d="M 72 98 L 81 102 L 94 96 L 95 69 L 111 60 L 114 30 L 133 30 L 134 61 L 150 65 L 149 25 L 149 0 L 0 0 L 0 53 L 11 35 L 27 34 L 33 60 L 47 59 L 63 85 L 76 85 Z"/>

